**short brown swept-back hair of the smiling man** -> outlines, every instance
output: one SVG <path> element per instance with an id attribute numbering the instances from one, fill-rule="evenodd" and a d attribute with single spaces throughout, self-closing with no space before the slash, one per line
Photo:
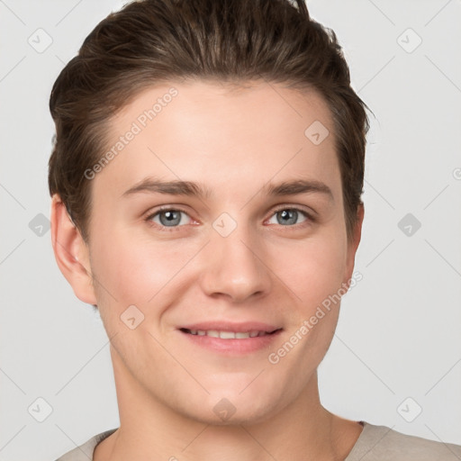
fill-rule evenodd
<path id="1" fill-rule="evenodd" d="M 350 239 L 369 124 L 335 33 L 311 19 L 303 0 L 140 0 L 97 24 L 50 95 L 50 194 L 59 194 L 86 241 L 84 173 L 106 149 L 111 118 L 141 90 L 177 78 L 237 85 L 262 78 L 319 92 L 333 119 Z"/>

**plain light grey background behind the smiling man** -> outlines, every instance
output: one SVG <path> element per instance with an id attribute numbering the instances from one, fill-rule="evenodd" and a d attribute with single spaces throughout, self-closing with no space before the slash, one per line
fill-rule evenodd
<path id="1" fill-rule="evenodd" d="M 51 86 L 120 0 L 0 0 L 0 460 L 52 460 L 118 411 L 102 322 L 50 244 Z M 312 0 L 370 115 L 363 280 L 320 367 L 345 418 L 461 444 L 461 2 Z M 41 399 L 41 400 L 37 400 Z"/>

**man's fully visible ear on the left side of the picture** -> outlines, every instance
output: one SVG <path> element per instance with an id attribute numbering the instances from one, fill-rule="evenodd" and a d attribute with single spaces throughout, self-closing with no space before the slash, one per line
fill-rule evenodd
<path id="1" fill-rule="evenodd" d="M 54 257 L 62 275 L 80 301 L 96 305 L 89 249 L 58 194 L 54 194 L 51 200 L 50 221 Z"/>

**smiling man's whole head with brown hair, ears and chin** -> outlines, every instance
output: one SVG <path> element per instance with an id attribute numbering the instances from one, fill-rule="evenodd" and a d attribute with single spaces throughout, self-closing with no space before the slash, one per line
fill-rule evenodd
<path id="1" fill-rule="evenodd" d="M 264 419 L 304 392 L 339 301 L 303 322 L 352 278 L 365 108 L 301 0 L 146 0 L 95 27 L 50 97 L 52 238 L 116 373 L 199 420 L 223 398 Z M 188 348 L 204 321 L 276 333 L 245 354 Z"/>

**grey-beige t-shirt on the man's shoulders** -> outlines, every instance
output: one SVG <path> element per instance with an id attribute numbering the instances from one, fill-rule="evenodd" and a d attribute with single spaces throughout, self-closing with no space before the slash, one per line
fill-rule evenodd
<path id="1" fill-rule="evenodd" d="M 460 461 L 461 446 L 407 436 L 385 426 L 361 421 L 364 429 L 344 461 Z M 93 459 L 96 445 L 116 429 L 109 429 L 90 438 L 56 461 L 88 461 Z"/>

